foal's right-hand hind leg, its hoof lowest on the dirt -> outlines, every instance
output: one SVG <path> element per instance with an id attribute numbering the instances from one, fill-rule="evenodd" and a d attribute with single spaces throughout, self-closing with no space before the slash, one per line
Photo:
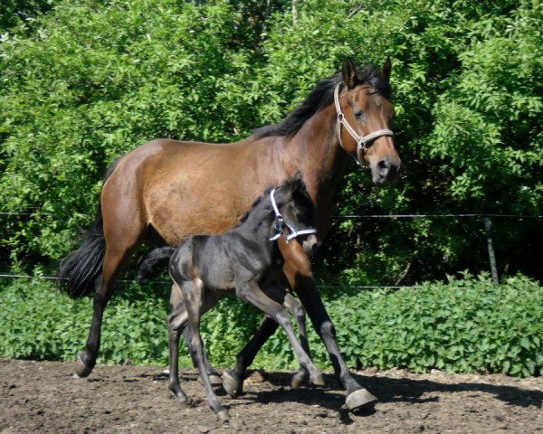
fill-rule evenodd
<path id="1" fill-rule="evenodd" d="M 190 340 L 188 346 L 193 356 L 193 360 L 198 365 L 200 377 L 207 392 L 207 403 L 214 410 L 219 420 L 228 420 L 228 410 L 222 405 L 213 390 L 213 385 L 209 380 L 209 375 L 205 369 L 204 363 L 204 344 L 200 336 L 200 307 L 203 305 L 204 287 L 202 281 L 198 278 L 193 280 L 191 287 L 183 286 L 185 297 L 186 313 L 188 316 L 188 327 L 190 329 Z"/>

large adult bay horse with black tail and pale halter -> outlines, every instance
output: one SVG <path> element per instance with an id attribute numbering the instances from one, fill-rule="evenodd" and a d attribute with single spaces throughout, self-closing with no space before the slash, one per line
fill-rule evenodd
<path id="1" fill-rule="evenodd" d="M 323 240 L 329 231 L 333 193 L 349 156 L 370 168 L 374 184 L 394 180 L 401 162 L 388 129 L 394 117 L 391 69 L 387 60 L 383 68 L 368 65 L 357 70 L 347 58 L 340 73 L 319 81 L 282 122 L 261 127 L 240 142 L 157 139 L 111 165 L 97 218 L 81 247 L 62 261 L 58 274 L 59 285 L 71 297 L 94 292 L 89 338 L 78 356 L 76 373 L 85 377 L 92 372 L 113 283 L 150 234 L 178 246 L 191 235 L 228 231 L 267 185 L 280 185 L 300 171 L 315 203 L 315 226 Z M 285 261 L 283 272 L 329 352 L 338 382 L 347 391 L 348 408 L 375 402 L 339 352 L 308 255 L 296 241 L 278 244 Z M 243 371 L 277 326 L 264 319 L 233 373 Z"/>

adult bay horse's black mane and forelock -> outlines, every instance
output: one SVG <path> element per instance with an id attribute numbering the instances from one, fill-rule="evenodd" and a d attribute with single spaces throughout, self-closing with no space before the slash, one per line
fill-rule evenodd
<path id="1" fill-rule="evenodd" d="M 377 93 L 383 95 L 386 99 L 390 99 L 392 93 L 390 83 L 387 80 L 384 80 L 381 71 L 376 68 L 376 66 L 367 65 L 364 69 L 357 70 L 357 80 L 366 82 L 375 89 Z M 282 122 L 260 127 L 255 129 L 252 134 L 258 138 L 294 136 L 302 125 L 315 113 L 334 102 L 334 89 L 341 81 L 341 73 L 319 81 L 315 86 L 315 89 L 313 89 L 308 97 L 303 100 L 300 106 L 293 109 Z M 341 89 L 343 86 L 344 85 L 341 86 Z"/>

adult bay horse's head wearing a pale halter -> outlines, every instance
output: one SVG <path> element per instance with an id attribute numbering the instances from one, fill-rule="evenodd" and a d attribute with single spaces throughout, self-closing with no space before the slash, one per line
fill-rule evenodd
<path id="1" fill-rule="evenodd" d="M 340 143 L 349 154 L 357 156 L 360 165 L 369 166 L 375 184 L 394 181 L 401 165 L 389 131 L 395 116 L 390 102 L 391 69 L 391 62 L 387 60 L 382 69 L 368 66 L 358 71 L 353 61 L 347 58 L 341 71 L 345 86 L 340 88 L 338 102 L 343 116 L 355 134 L 367 136 L 369 140 L 357 146 L 356 138 L 342 127 Z M 374 133 L 377 133 L 374 135 L 377 138 L 372 139 Z"/>

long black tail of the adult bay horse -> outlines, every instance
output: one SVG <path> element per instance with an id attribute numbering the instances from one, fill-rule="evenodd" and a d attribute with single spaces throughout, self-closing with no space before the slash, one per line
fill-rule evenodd
<path id="1" fill-rule="evenodd" d="M 116 160 L 108 167 L 104 181 L 110 177 L 118 163 L 119 160 Z M 57 285 L 73 298 L 90 295 L 94 291 L 96 278 L 100 276 L 105 253 L 106 240 L 99 203 L 96 220 L 87 231 L 81 247 L 62 260 Z"/>

